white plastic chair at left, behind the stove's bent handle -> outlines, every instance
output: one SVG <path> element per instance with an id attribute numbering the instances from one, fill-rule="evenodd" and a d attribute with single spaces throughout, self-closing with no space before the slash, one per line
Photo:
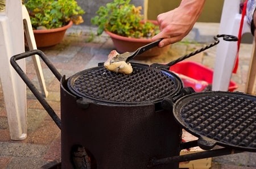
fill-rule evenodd
<path id="1" fill-rule="evenodd" d="M 10 65 L 11 56 L 24 52 L 24 32 L 29 48 L 36 49 L 26 7 L 20 0 L 6 1 L 5 11 L 0 12 L 0 78 L 12 140 L 24 140 L 27 137 L 26 85 Z M 35 56 L 33 61 L 40 87 L 43 94 L 47 96 L 39 57 Z M 25 61 L 20 60 L 18 63 L 25 70 Z"/>

